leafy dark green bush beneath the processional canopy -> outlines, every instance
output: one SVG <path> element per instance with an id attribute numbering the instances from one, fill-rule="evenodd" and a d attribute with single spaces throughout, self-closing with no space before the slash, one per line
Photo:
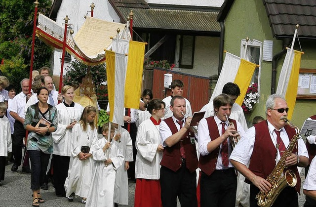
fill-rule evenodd
<path id="1" fill-rule="evenodd" d="M 83 63 L 80 63 L 77 60 L 72 61 L 71 65 L 67 66 L 66 68 L 67 72 L 63 77 L 63 84 L 71 85 L 77 88 L 79 86 L 78 85 L 79 77 L 85 76 L 87 74 L 87 70 L 88 70 L 87 66 L 84 65 Z M 99 85 L 101 85 L 101 83 L 107 80 L 105 64 L 91 66 L 90 73 L 91 73 L 91 77 L 96 88 L 98 88 Z"/>

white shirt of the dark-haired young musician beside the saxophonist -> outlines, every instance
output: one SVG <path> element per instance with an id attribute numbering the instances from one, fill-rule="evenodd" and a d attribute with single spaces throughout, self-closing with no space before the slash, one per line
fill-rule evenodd
<path id="1" fill-rule="evenodd" d="M 222 121 L 220 119 L 218 119 L 217 116 L 214 116 L 214 120 L 217 124 L 217 130 L 219 132 L 219 135 L 222 135 Z M 240 136 L 243 136 L 245 131 L 243 130 L 243 128 L 241 127 L 240 123 L 238 121 L 236 121 L 237 124 L 237 132 L 239 133 Z M 225 124 L 225 130 L 227 129 L 228 125 Z M 214 129 L 216 130 L 216 129 Z M 216 137 L 214 137 L 216 138 Z M 202 156 L 208 155 L 209 152 L 207 151 L 207 144 L 209 141 L 211 141 L 211 137 L 209 136 L 209 130 L 208 130 L 208 124 L 205 118 L 201 119 L 201 121 L 198 124 L 197 127 L 197 140 L 198 140 L 198 149 L 199 149 L 199 153 Z M 230 139 L 227 138 L 227 142 L 230 143 Z M 221 155 L 221 151 L 222 151 L 222 144 L 220 144 L 219 146 L 219 153 L 218 153 L 218 157 L 217 157 L 217 162 L 216 162 L 216 169 L 227 169 L 230 167 L 234 167 L 231 162 L 229 162 L 229 165 L 227 167 L 223 166 L 222 164 L 222 155 Z M 229 147 L 228 148 L 228 157 L 230 157 L 232 153 L 232 148 Z"/>

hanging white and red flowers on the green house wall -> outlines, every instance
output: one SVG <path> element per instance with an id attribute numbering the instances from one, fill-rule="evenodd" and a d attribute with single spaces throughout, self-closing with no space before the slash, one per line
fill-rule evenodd
<path id="1" fill-rule="evenodd" d="M 241 108 L 245 114 L 250 114 L 255 103 L 257 103 L 259 98 L 258 93 L 258 83 L 251 83 L 247 89 L 245 98 L 243 99 L 243 103 Z"/>

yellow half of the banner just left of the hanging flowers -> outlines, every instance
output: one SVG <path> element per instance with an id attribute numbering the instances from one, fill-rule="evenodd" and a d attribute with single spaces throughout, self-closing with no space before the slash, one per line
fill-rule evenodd
<path id="1" fill-rule="evenodd" d="M 236 99 L 236 103 L 239 106 L 241 106 L 246 95 L 255 68 L 256 64 L 244 59 L 240 60 L 240 65 L 234 81 L 240 88 L 240 95 Z"/>

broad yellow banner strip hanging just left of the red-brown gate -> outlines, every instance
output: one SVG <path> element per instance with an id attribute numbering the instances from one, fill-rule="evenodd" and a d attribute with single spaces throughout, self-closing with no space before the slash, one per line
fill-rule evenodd
<path id="1" fill-rule="evenodd" d="M 124 97 L 124 106 L 126 108 L 139 109 L 144 53 L 145 42 L 129 41 Z"/>

